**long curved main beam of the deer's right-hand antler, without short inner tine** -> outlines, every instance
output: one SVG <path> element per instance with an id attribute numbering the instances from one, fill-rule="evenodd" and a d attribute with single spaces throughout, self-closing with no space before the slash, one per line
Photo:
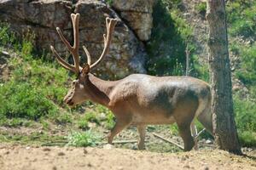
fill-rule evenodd
<path id="1" fill-rule="evenodd" d="M 110 47 L 110 42 L 112 39 L 112 35 L 113 35 L 113 29 L 114 26 L 116 25 L 117 20 L 116 19 L 110 19 L 110 18 L 106 18 L 106 26 L 107 26 L 107 37 L 103 35 L 104 37 L 104 48 L 102 51 L 102 55 L 101 57 L 96 60 L 96 62 L 93 65 L 90 65 L 90 69 L 95 67 L 97 64 L 99 64 L 101 62 L 101 60 L 103 59 L 103 57 L 108 54 L 108 50 Z"/>

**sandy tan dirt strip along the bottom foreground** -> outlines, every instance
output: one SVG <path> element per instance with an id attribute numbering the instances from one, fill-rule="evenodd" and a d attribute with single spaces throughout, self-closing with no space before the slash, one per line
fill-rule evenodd
<path id="1" fill-rule="evenodd" d="M 0 144 L 2 170 L 71 169 L 247 169 L 256 157 L 234 156 L 222 150 L 154 153 L 125 149 L 38 147 Z"/>

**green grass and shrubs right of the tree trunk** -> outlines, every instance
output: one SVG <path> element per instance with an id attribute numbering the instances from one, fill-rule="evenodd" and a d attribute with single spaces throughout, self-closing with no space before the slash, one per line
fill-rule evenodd
<path id="1" fill-rule="evenodd" d="M 235 76 L 249 91 L 244 99 L 239 91 L 234 92 L 236 125 L 241 144 L 256 145 L 256 2 L 229 1 L 227 3 L 227 21 L 230 35 L 230 52 L 237 56 L 240 65 L 234 71 Z"/>

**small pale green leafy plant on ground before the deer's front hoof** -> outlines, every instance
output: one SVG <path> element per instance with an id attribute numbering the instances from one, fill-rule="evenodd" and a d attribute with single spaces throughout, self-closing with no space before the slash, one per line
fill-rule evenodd
<path id="1" fill-rule="evenodd" d="M 84 133 L 73 132 L 67 136 L 67 145 L 86 147 L 86 146 L 96 146 L 100 140 L 100 136 L 91 131 L 86 131 Z"/>

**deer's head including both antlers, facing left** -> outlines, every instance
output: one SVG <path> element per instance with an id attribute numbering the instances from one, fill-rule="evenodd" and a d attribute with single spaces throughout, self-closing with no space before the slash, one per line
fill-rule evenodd
<path id="1" fill-rule="evenodd" d="M 84 63 L 83 67 L 81 67 L 79 65 L 79 14 L 71 14 L 71 19 L 73 23 L 73 46 L 67 42 L 67 39 L 63 36 L 59 27 L 56 28 L 56 31 L 58 32 L 61 41 L 73 55 L 74 65 L 68 64 L 67 61 L 62 59 L 61 56 L 56 52 L 55 48 L 50 46 L 50 49 L 52 50 L 53 54 L 55 54 L 57 61 L 67 70 L 73 71 L 77 76 L 77 79 L 73 81 L 72 88 L 68 91 L 64 98 L 64 102 L 69 106 L 78 105 L 79 103 L 82 103 L 84 100 L 88 99 L 87 95 L 90 93 L 87 92 L 88 89 L 86 88 L 86 83 L 88 82 L 88 74 L 90 73 L 90 70 L 98 65 L 103 57 L 108 54 L 113 35 L 113 29 L 117 23 L 116 19 L 106 18 L 107 36 L 105 34 L 103 35 L 104 48 L 100 58 L 97 59 L 94 64 L 91 64 L 91 58 L 88 49 L 83 46 L 84 52 L 87 56 L 87 63 Z"/>

